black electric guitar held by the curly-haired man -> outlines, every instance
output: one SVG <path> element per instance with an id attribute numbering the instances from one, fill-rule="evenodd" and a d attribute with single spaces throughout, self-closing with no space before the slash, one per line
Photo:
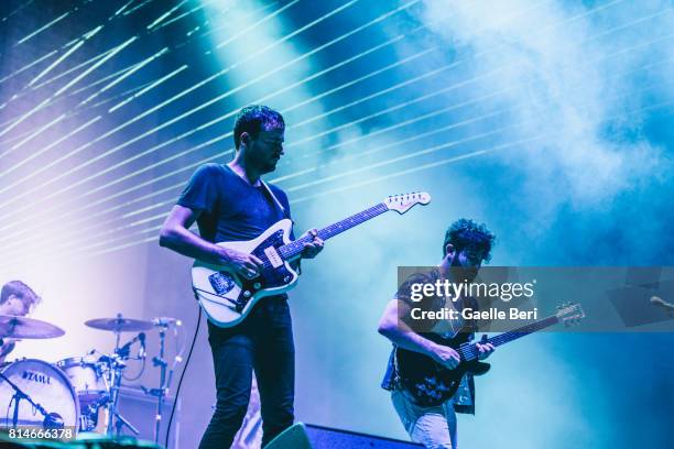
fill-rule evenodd
<path id="1" fill-rule="evenodd" d="M 480 343 L 491 343 L 494 347 L 517 340 L 521 337 L 545 329 L 557 322 L 565 325 L 578 322 L 585 317 L 579 304 L 569 304 L 558 308 L 553 316 L 542 320 L 522 326 L 518 329 L 487 338 L 482 336 Z M 424 336 L 426 337 L 426 336 Z M 470 332 L 457 332 L 452 338 L 443 338 L 439 335 L 431 335 L 430 340 L 438 344 L 454 348 L 460 355 L 458 366 L 450 370 L 428 355 L 406 349 L 395 349 L 395 368 L 401 385 L 412 399 L 421 406 L 436 406 L 456 393 L 461 377 L 466 373 L 482 375 L 491 368 L 489 363 L 478 360 L 479 350 L 475 343 L 470 343 Z"/>

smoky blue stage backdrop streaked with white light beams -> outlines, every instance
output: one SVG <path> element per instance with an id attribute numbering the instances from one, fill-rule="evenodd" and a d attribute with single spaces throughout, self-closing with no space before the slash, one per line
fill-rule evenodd
<path id="1" fill-rule="evenodd" d="M 389 344 L 377 321 L 395 267 L 437 262 L 458 217 L 497 233 L 498 265 L 674 263 L 671 1 L 0 8 L 0 282 L 34 286 L 44 298 L 34 316 L 67 330 L 19 355 L 109 350 L 111 336 L 83 322 L 116 313 L 180 317 L 181 341 L 191 338 L 191 261 L 160 249 L 157 232 L 194 169 L 232 156 L 233 116 L 252 102 L 289 123 L 267 179 L 289 193 L 297 231 L 389 194 L 434 198 L 304 264 L 291 295 L 301 420 L 405 437 L 379 388 Z M 459 440 L 665 447 L 673 343 L 547 335 L 504 348 Z M 139 382 L 157 376 L 146 368 Z M 213 384 L 202 329 L 181 447 L 196 446 Z"/>

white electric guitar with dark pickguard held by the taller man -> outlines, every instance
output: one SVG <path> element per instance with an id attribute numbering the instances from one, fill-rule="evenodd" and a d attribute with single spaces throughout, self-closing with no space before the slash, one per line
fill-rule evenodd
<path id="1" fill-rule="evenodd" d="M 377 206 L 318 230 L 317 236 L 325 241 L 389 210 L 404 213 L 415 205 L 428 202 L 431 195 L 424 191 L 390 196 Z M 295 286 L 297 272 L 291 267 L 290 262 L 300 259 L 304 243 L 311 242 L 312 237 L 291 242 L 292 225 L 291 220 L 284 219 L 254 240 L 218 243 L 220 247 L 254 254 L 263 262 L 261 273 L 252 280 L 243 278 L 222 266 L 200 261 L 194 263 L 192 287 L 211 322 L 220 327 L 236 326 L 260 298 L 282 294 Z"/>

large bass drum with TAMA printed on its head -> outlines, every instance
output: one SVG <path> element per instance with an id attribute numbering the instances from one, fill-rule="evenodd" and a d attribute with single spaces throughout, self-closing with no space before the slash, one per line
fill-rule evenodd
<path id="1" fill-rule="evenodd" d="M 35 359 L 19 360 L 1 370 L 14 385 L 40 404 L 46 413 L 63 421 L 65 427 L 77 431 L 79 426 L 79 402 L 73 384 L 57 368 Z M 0 377 L 0 427 L 12 427 L 15 402 L 14 388 Z M 26 401 L 19 402 L 18 426 L 43 427 L 44 416 Z"/>

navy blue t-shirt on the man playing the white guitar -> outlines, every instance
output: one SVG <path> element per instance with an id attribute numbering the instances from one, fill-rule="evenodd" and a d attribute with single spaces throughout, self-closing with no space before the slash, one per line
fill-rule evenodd
<path id="1" fill-rule="evenodd" d="M 285 193 L 268 186 L 285 212 L 264 186 L 251 186 L 228 165 L 206 164 L 194 173 L 177 204 L 202 212 L 197 226 L 204 240 L 213 243 L 252 240 L 276 221 L 290 218 Z"/>

